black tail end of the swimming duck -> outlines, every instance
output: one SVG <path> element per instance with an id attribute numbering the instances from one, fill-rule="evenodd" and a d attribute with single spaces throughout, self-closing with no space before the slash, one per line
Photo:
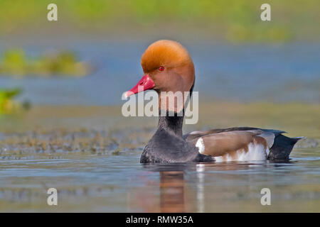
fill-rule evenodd
<path id="1" fill-rule="evenodd" d="M 294 144 L 296 144 L 298 140 L 301 140 L 302 138 L 303 137 L 289 138 L 282 134 L 277 135 L 274 138 L 272 148 L 270 148 L 268 159 L 288 160 Z"/>

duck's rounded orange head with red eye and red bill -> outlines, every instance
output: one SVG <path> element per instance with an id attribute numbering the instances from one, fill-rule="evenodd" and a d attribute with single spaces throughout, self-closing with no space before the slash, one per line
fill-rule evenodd
<path id="1" fill-rule="evenodd" d="M 154 89 L 156 92 L 189 92 L 194 66 L 188 50 L 172 40 L 158 40 L 142 55 L 144 76 L 125 96 Z"/>

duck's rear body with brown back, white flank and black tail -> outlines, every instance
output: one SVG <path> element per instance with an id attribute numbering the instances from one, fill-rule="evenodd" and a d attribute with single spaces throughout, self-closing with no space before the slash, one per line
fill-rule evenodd
<path id="1" fill-rule="evenodd" d="M 284 131 L 252 127 L 218 128 L 183 135 L 199 152 L 216 161 L 288 160 L 294 144 Z"/>

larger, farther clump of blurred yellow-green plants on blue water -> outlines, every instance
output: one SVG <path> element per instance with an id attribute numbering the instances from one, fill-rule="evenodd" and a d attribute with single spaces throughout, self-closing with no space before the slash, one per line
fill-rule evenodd
<path id="1" fill-rule="evenodd" d="M 0 74 L 16 77 L 28 75 L 81 77 L 89 72 L 90 65 L 86 62 L 78 62 L 75 54 L 70 51 L 30 57 L 23 50 L 7 50 L 3 53 L 2 62 L 0 62 Z"/>

